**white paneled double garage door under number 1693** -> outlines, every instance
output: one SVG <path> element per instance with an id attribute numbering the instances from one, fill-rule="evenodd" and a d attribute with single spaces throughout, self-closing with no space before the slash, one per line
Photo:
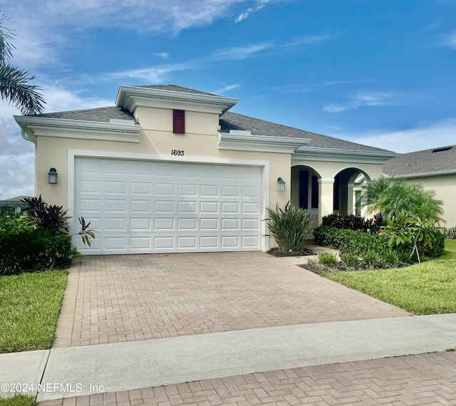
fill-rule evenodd
<path id="1" fill-rule="evenodd" d="M 261 169 L 76 158 L 75 217 L 87 254 L 261 249 Z"/>

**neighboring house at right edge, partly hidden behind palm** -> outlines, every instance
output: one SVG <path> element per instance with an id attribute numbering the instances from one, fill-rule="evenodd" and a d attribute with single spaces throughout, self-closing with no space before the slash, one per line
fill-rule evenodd
<path id="1" fill-rule="evenodd" d="M 434 190 L 444 202 L 445 227 L 456 226 L 456 145 L 400 155 L 386 162 L 383 172 Z"/>

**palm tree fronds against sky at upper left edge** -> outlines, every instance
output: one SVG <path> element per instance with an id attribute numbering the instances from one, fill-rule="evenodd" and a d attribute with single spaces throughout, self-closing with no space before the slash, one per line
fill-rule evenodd
<path id="1" fill-rule="evenodd" d="M 35 76 L 29 76 L 26 70 L 10 64 L 14 33 L 4 26 L 7 19 L 5 14 L 0 15 L 0 97 L 9 100 L 24 115 L 43 113 L 45 101 L 38 93 L 40 88 L 28 84 Z"/>

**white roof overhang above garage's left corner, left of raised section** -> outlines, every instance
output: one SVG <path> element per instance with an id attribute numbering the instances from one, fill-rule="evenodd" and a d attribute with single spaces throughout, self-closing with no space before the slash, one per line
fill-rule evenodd
<path id="1" fill-rule="evenodd" d="M 36 144 L 36 137 L 65 137 L 87 140 L 139 142 L 138 124 L 100 123 L 95 121 L 66 120 L 63 118 L 14 115 L 21 126 L 22 137 Z M 126 120 L 125 120 L 126 121 Z"/>

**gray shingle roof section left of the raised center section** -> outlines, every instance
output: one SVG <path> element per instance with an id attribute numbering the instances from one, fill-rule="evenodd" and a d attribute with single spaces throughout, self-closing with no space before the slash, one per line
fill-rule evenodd
<path id="1" fill-rule="evenodd" d="M 111 118 L 117 120 L 135 120 L 135 116 L 128 110 L 115 106 L 90 108 L 87 110 L 60 111 L 57 113 L 38 114 L 36 117 L 63 118 L 66 120 L 98 121 L 109 123 Z"/>

